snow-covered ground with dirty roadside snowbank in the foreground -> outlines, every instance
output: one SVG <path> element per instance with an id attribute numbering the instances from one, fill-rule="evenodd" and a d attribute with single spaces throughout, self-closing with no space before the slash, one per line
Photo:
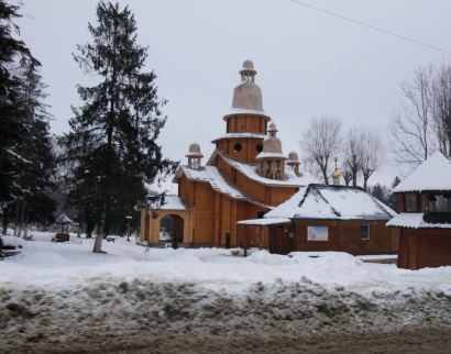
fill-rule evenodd
<path id="1" fill-rule="evenodd" d="M 451 267 L 413 272 L 336 252 L 146 253 L 125 237 L 103 241 L 106 254 L 95 254 L 94 239 L 52 237 L 15 239 L 21 254 L 0 262 L 0 352 L 52 352 L 50 344 L 55 352 L 112 352 L 167 331 L 240 338 L 242 330 L 306 335 L 451 323 Z"/>

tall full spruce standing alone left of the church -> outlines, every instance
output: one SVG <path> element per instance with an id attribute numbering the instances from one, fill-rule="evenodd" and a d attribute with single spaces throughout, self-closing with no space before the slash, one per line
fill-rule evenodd
<path id="1" fill-rule="evenodd" d="M 174 170 L 156 144 L 166 117 L 162 115 L 154 73 L 141 73 L 147 47 L 136 44 L 136 24 L 125 7 L 100 1 L 98 25 L 88 24 L 92 43 L 77 45 L 74 59 L 87 74 L 101 77 L 94 87 L 78 86 L 80 108 L 73 108 L 70 132 L 59 143 L 63 161 L 73 162 L 69 202 L 85 200 L 98 223 L 94 252 L 109 224 L 125 223 L 138 200 L 145 199 L 144 182 Z"/>

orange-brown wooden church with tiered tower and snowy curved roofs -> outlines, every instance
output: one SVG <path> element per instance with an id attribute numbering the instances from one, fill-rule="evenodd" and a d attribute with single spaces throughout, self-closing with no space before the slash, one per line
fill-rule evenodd
<path id="1" fill-rule="evenodd" d="M 284 155 L 276 124 L 263 110 L 253 63 L 244 62 L 239 73 L 241 84 L 223 117 L 226 133 L 212 141 L 210 158 L 202 165 L 200 146 L 191 144 L 173 180 L 178 196 L 167 197 L 157 210 L 139 209 L 141 240 L 151 245 L 160 242 L 162 219 L 170 218 L 172 235 L 186 245 L 224 245 L 230 232 L 232 246 L 243 246 L 238 221 L 263 218 L 301 187 L 318 182 L 300 172 L 296 153 Z M 268 247 L 257 228 L 249 225 L 244 232 L 248 240 Z"/>

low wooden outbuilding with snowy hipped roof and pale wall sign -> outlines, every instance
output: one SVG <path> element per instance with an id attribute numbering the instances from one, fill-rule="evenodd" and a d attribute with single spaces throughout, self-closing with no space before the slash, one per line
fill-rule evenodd
<path id="1" fill-rule="evenodd" d="M 271 253 L 341 251 L 371 255 L 397 253 L 398 231 L 385 228 L 394 215 L 395 211 L 361 187 L 311 184 L 264 219 L 274 220 L 268 225 Z M 289 222 L 279 222 L 284 218 Z"/>

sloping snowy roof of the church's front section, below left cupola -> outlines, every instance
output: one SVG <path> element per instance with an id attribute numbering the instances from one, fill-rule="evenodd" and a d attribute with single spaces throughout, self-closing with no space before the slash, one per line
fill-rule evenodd
<path id="1" fill-rule="evenodd" d="M 177 182 L 178 178 L 180 178 L 183 174 L 185 174 L 189 180 L 198 180 L 210 184 L 211 188 L 216 191 L 227 195 L 232 199 L 248 200 L 249 202 L 267 209 L 274 208 L 255 200 L 251 196 L 240 190 L 231 181 L 227 180 L 224 176 L 221 175 L 220 170 L 215 166 L 205 166 L 200 169 L 194 169 L 188 166 L 180 165 L 174 176 L 173 181 Z"/>

